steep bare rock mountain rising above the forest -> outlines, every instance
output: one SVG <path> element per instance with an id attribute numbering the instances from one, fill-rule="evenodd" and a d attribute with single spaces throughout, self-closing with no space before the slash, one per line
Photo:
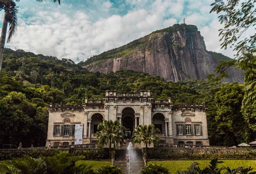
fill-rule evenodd
<path id="1" fill-rule="evenodd" d="M 143 71 L 164 77 L 166 81 L 206 79 L 220 61 L 229 57 L 206 50 L 197 26 L 175 24 L 155 31 L 127 45 L 92 56 L 79 64 L 89 71 L 101 73 L 118 70 Z M 243 71 L 230 68 L 225 82 L 243 83 Z"/>

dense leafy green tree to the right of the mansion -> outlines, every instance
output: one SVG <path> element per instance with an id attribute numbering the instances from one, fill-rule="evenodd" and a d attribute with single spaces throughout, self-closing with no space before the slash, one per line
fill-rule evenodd
<path id="1" fill-rule="evenodd" d="M 242 97 L 242 85 L 239 84 L 225 85 L 215 95 L 216 133 L 223 137 L 224 146 L 248 142 L 253 136 L 253 130 L 248 127 L 240 112 Z"/>

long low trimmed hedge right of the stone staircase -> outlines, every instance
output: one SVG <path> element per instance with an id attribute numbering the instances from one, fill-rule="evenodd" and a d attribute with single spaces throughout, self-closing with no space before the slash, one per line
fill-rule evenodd
<path id="1" fill-rule="evenodd" d="M 170 148 L 149 148 L 147 149 L 147 159 L 253 159 L 256 158 L 255 150 L 247 150 L 238 152 L 236 150 L 218 151 L 218 149 L 210 150 L 204 153 L 198 153 L 193 149 L 170 149 Z"/>

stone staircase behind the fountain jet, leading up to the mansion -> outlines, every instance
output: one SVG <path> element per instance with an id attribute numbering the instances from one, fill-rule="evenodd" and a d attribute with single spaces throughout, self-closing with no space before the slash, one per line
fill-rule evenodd
<path id="1" fill-rule="evenodd" d="M 126 149 L 116 149 L 116 155 L 114 156 L 114 165 L 121 168 L 123 170 L 123 173 L 139 173 L 144 166 L 142 150 L 132 150 L 134 154 L 136 154 L 136 159 L 130 160 L 130 170 L 129 168 L 127 168 L 127 163 L 125 160 L 126 151 Z"/>

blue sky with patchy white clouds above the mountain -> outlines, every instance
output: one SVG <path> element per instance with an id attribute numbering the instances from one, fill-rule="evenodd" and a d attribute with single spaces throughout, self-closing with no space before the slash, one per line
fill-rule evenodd
<path id="1" fill-rule="evenodd" d="M 174 24 L 196 25 L 207 50 L 233 57 L 220 49 L 218 30 L 223 27 L 214 0 L 21 0 L 18 27 L 6 47 L 36 54 L 68 58 L 75 62 L 125 45 Z M 0 12 L 3 19 L 3 11 Z M 2 26 L 2 23 L 0 22 Z"/>

